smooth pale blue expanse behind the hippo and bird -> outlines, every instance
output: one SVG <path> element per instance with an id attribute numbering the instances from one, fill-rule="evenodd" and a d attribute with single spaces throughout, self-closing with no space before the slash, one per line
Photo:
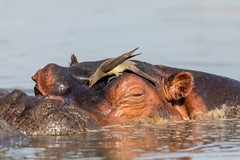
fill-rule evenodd
<path id="1" fill-rule="evenodd" d="M 70 55 L 95 61 L 136 47 L 137 60 L 240 80 L 239 0 L 0 0 L 0 87 Z"/>

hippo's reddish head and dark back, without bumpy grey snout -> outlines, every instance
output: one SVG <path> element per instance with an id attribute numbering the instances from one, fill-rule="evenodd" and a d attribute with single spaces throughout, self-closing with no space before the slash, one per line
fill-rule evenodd
<path id="1" fill-rule="evenodd" d="M 62 101 L 72 99 L 101 125 L 126 124 L 156 116 L 173 120 L 201 120 L 211 109 L 221 108 L 223 104 L 234 106 L 240 103 L 236 98 L 240 95 L 238 81 L 139 61 L 135 61 L 137 66 L 155 77 L 159 85 L 155 86 L 128 72 L 110 82 L 108 78 L 111 77 L 105 77 L 93 88 L 88 87 L 88 81 L 80 82 L 74 78 L 90 77 L 103 62 L 76 61 L 66 68 L 56 64 L 47 65 L 33 76 L 36 88 L 41 88 L 37 92 Z M 47 79 L 46 73 L 54 80 Z"/>

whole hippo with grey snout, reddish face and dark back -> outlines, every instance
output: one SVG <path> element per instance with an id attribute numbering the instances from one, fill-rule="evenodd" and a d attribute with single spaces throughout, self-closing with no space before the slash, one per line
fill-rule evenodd
<path id="1" fill-rule="evenodd" d="M 144 118 L 204 120 L 211 110 L 240 104 L 237 80 L 137 60 L 131 61 L 156 83 L 123 70 L 89 86 L 107 60 L 79 63 L 72 55 L 68 67 L 46 65 L 32 76 L 35 96 L 1 91 L 0 118 L 26 135 L 66 135 Z"/>

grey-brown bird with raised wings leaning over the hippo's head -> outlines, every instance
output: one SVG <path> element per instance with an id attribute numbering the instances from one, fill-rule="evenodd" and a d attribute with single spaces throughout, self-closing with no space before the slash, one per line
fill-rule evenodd
<path id="1" fill-rule="evenodd" d="M 110 58 L 104 61 L 96 71 L 90 76 L 89 78 L 89 87 L 97 83 L 100 79 L 106 76 L 115 75 L 115 77 L 119 77 L 123 74 L 124 71 L 129 70 L 147 80 L 152 82 L 154 85 L 157 84 L 155 78 L 151 77 L 150 75 L 146 74 L 145 72 L 141 71 L 139 68 L 136 67 L 136 63 L 128 60 L 132 57 L 135 57 L 141 53 L 133 54 L 138 48 L 135 48 L 127 53 L 124 53 L 116 58 Z M 112 79 L 111 77 L 110 79 Z"/>

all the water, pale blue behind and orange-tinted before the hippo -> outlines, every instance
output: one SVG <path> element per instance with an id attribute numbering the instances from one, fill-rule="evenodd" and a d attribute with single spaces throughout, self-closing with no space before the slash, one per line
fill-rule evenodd
<path id="1" fill-rule="evenodd" d="M 48 63 L 115 57 L 240 80 L 238 0 L 0 0 L 0 87 L 33 94 Z M 238 120 L 113 127 L 78 136 L 34 137 L 1 151 L 9 159 L 239 159 Z"/>

